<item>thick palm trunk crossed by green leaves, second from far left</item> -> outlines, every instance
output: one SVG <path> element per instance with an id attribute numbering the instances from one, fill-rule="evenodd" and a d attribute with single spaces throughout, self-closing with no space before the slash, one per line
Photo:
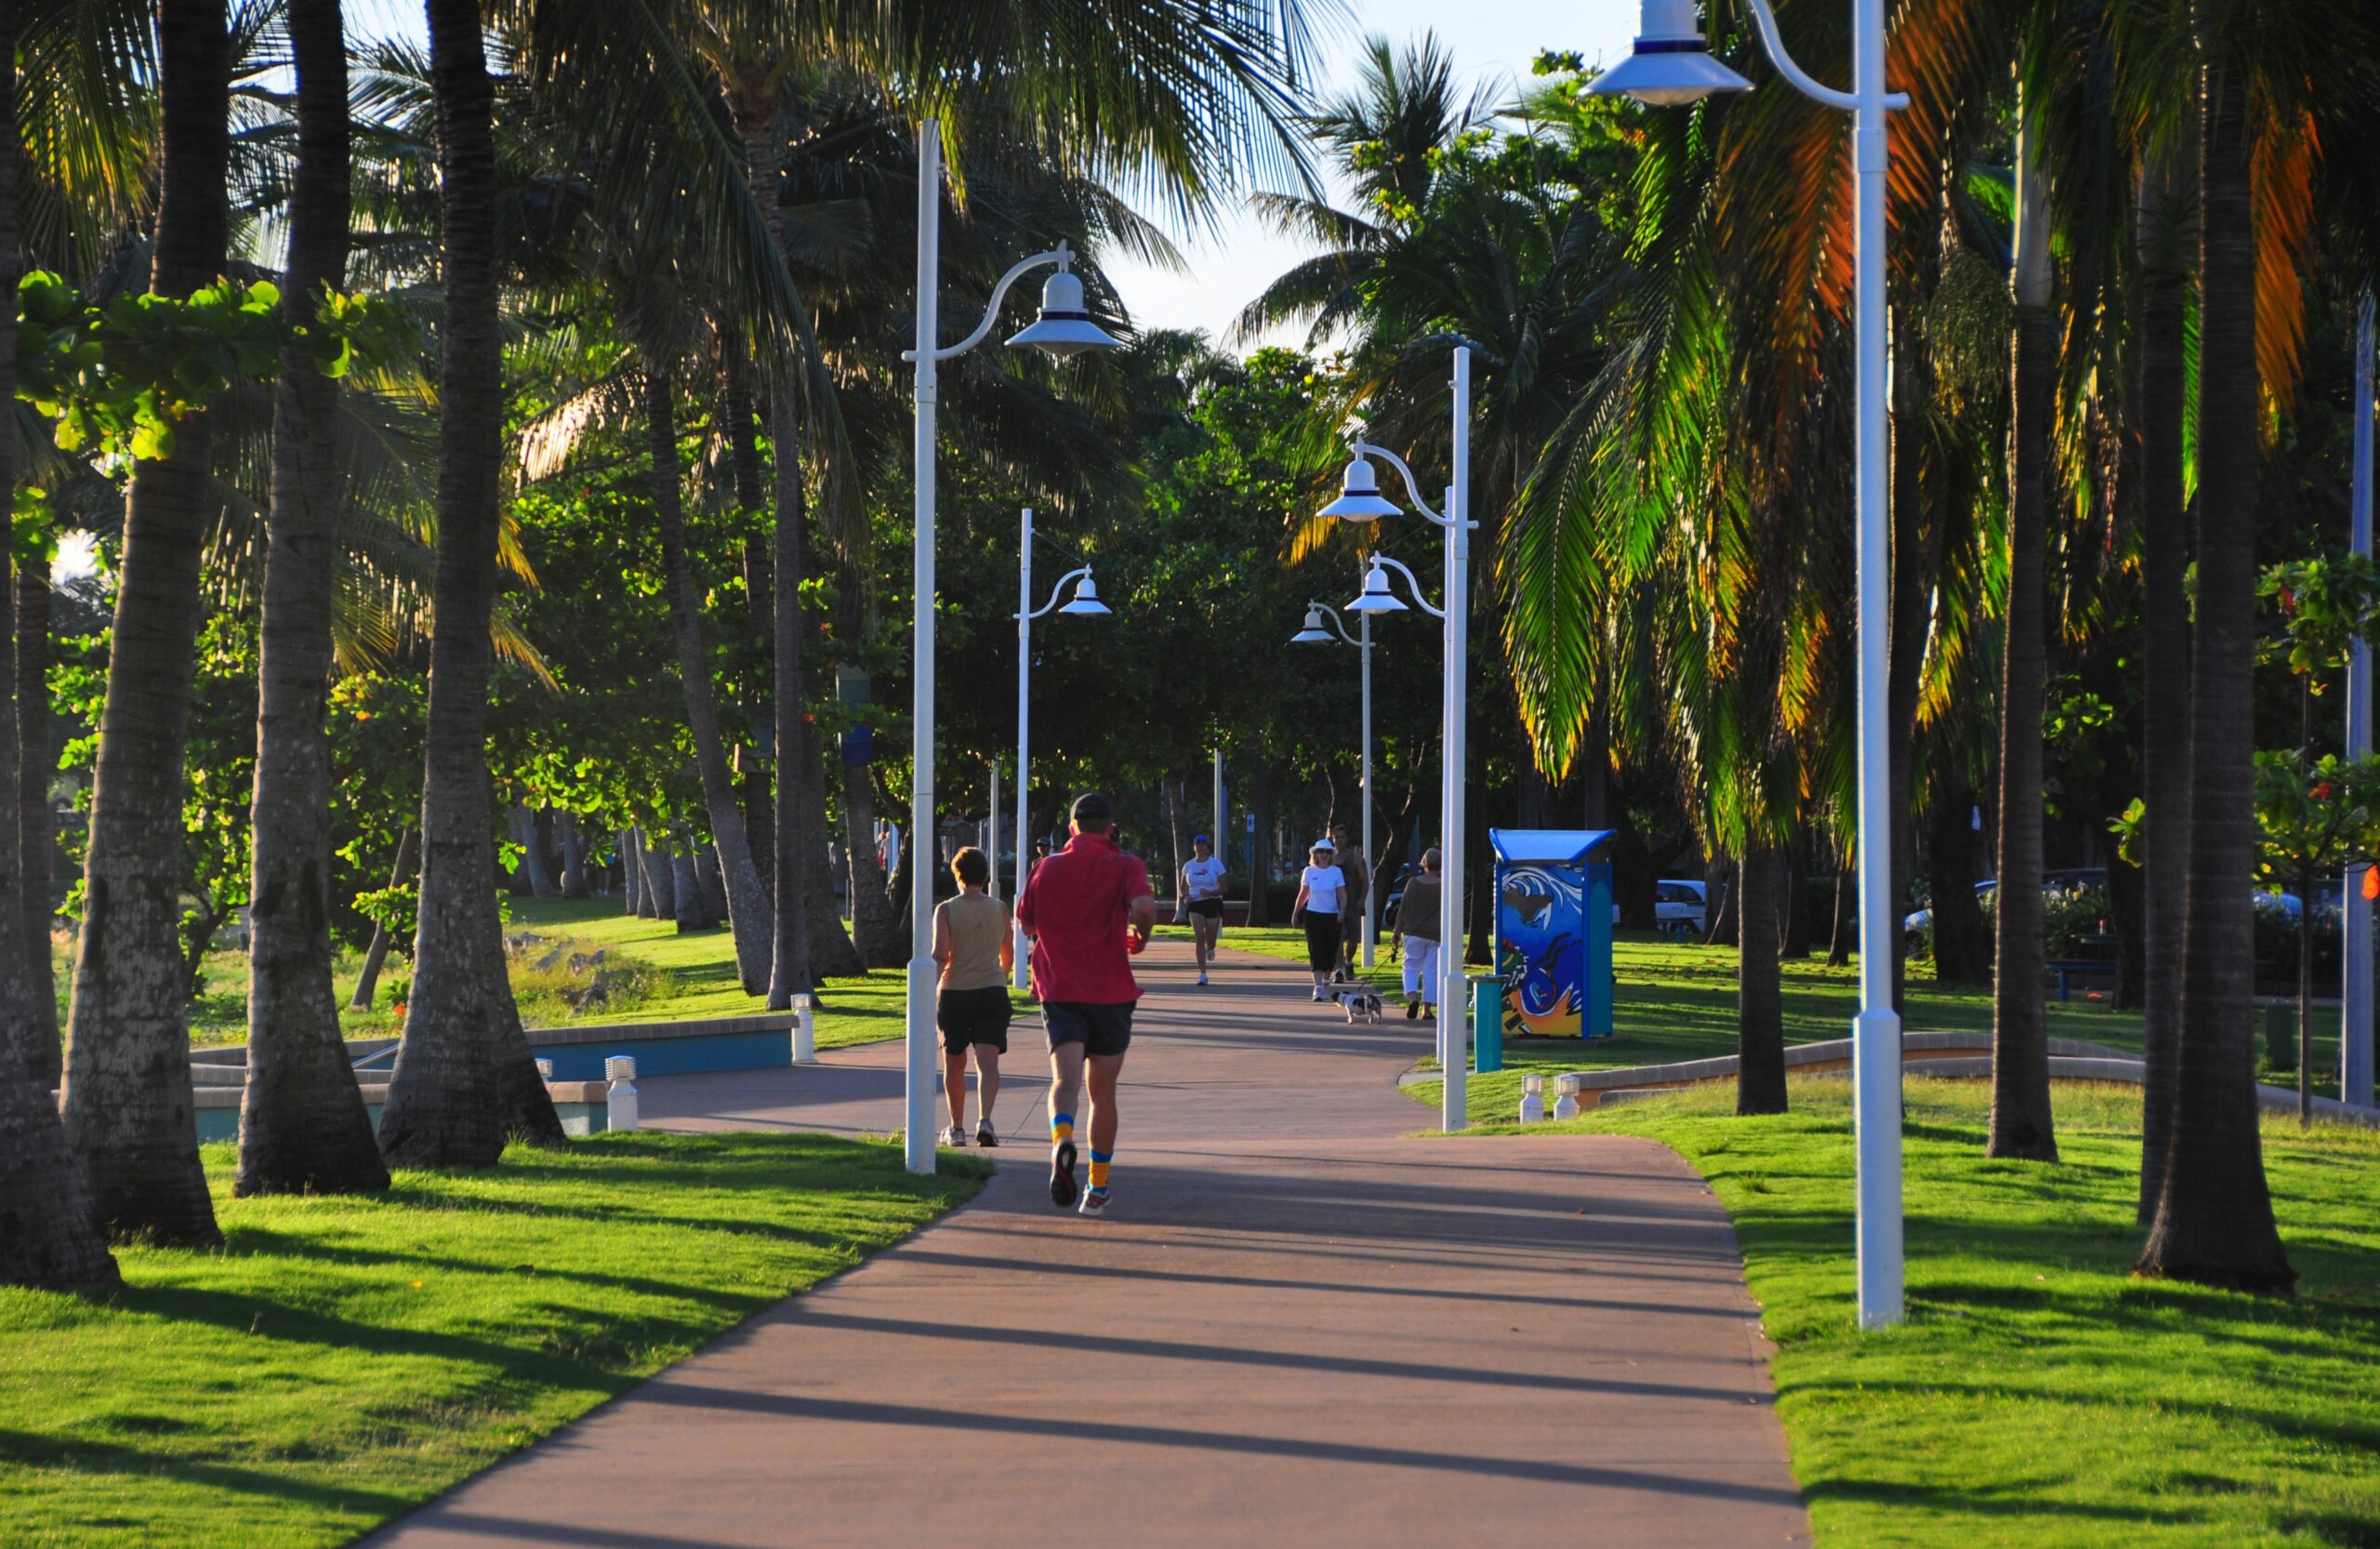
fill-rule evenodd
<path id="1" fill-rule="evenodd" d="M 224 2 L 159 7 L 157 62 L 164 176 L 150 290 L 183 297 L 214 281 L 226 257 L 231 59 Z M 133 464 L 124 500 L 124 566 L 90 792 L 64 1083 L 67 1135 L 100 1223 L 188 1247 L 224 1240 L 198 1166 L 181 966 L 181 795 L 209 440 L 205 412 L 186 419 L 171 457 Z M 21 964 L 19 942 L 10 952 Z"/>

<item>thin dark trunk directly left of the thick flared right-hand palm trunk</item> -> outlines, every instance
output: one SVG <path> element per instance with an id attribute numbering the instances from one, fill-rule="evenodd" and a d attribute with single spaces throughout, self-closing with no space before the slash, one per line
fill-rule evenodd
<path id="1" fill-rule="evenodd" d="M 2140 1225 L 2156 1216 L 2180 1073 L 2182 895 L 2190 873 L 2190 528 L 2182 507 L 2187 357 L 2187 145 L 2140 178 L 2140 790 L 2142 1083 Z"/>

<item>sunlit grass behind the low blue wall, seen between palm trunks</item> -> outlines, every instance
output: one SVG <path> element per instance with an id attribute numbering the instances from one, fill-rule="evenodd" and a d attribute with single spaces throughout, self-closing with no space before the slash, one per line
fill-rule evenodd
<path id="1" fill-rule="evenodd" d="M 745 995 L 735 978 L 735 942 L 726 926 L 678 935 L 671 921 L 645 921 L 621 914 L 616 899 L 512 899 L 507 937 L 536 935 L 538 942 L 512 961 L 512 992 L 521 1021 L 531 1028 L 595 1026 L 621 1021 L 695 1021 L 709 1016 L 754 1016 L 766 1002 Z M 566 992 L 581 987 L 593 971 L 564 964 L 538 971 L 555 949 L 562 957 L 605 952 L 607 973 L 626 980 L 602 1006 L 571 1009 Z M 60 937 L 60 983 L 74 973 L 74 942 Z M 359 952 L 340 952 L 336 985 L 340 1026 L 347 1037 L 393 1037 L 395 1004 L 412 980 L 412 964 L 390 957 L 381 971 L 378 995 L 369 1011 L 347 1009 Z M 907 990 L 900 971 L 876 971 L 866 978 L 833 978 L 821 987 L 823 1011 L 816 1018 L 819 1047 L 838 1049 L 902 1035 Z M 1026 1004 L 1019 999 L 1019 1004 Z M 64 1014 L 64 1006 L 60 1006 Z M 224 1045 L 248 1040 L 248 954 L 212 952 L 207 957 L 207 992 L 190 1004 L 190 1042 Z"/>

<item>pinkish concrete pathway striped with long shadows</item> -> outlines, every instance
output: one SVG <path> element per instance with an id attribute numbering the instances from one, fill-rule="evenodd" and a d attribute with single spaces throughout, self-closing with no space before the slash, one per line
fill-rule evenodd
<path id="1" fill-rule="evenodd" d="M 1050 1206 L 1040 1030 L 981 1199 L 367 1539 L 402 1549 L 1806 1544 L 1726 1214 L 1626 1137 L 1399 1137 L 1428 1023 L 1142 959 L 1116 1204 Z M 638 1083 L 888 1130 L 900 1047 Z"/>

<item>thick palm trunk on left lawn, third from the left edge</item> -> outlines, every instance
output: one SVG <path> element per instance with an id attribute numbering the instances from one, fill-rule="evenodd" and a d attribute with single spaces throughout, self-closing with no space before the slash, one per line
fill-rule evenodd
<path id="1" fill-rule="evenodd" d="M 305 307 L 347 278 L 347 43 L 340 0 L 288 0 L 298 169 L 286 295 Z M 255 859 L 248 890 L 248 1092 L 236 1194 L 388 1187 L 347 1066 L 331 985 L 331 681 L 338 385 L 302 343 L 274 397 L 271 514 L 257 666 Z"/>

